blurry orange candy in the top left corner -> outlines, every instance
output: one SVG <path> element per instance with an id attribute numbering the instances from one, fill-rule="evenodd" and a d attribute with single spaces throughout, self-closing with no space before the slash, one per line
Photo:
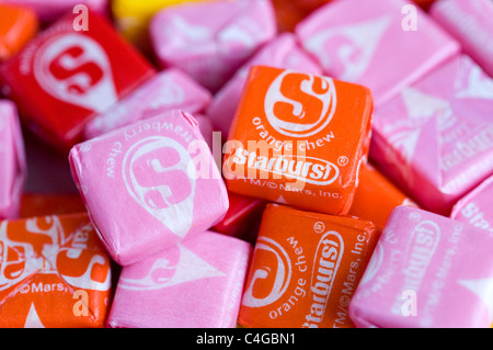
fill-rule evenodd
<path id="1" fill-rule="evenodd" d="M 37 29 L 38 21 L 31 9 L 0 4 L 0 61 L 19 52 Z"/>

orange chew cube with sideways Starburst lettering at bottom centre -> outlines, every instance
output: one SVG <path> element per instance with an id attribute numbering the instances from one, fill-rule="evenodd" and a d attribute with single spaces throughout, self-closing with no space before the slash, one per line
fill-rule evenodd
<path id="1" fill-rule="evenodd" d="M 239 324 L 254 328 L 353 328 L 347 308 L 381 230 L 346 216 L 267 205 Z"/>

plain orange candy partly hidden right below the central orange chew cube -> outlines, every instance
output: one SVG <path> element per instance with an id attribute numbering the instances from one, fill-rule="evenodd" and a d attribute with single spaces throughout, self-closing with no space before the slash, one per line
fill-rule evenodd
<path id="1" fill-rule="evenodd" d="M 383 228 L 390 213 L 399 205 L 417 206 L 371 165 L 362 167 L 349 215 L 363 217 Z"/>

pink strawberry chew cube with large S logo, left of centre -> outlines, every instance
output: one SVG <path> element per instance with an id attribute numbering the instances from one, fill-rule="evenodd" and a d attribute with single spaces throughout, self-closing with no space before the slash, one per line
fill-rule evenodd
<path id="1" fill-rule="evenodd" d="M 95 228 L 122 266 L 208 229 L 228 211 L 210 149 L 181 111 L 79 144 L 70 163 Z"/>

